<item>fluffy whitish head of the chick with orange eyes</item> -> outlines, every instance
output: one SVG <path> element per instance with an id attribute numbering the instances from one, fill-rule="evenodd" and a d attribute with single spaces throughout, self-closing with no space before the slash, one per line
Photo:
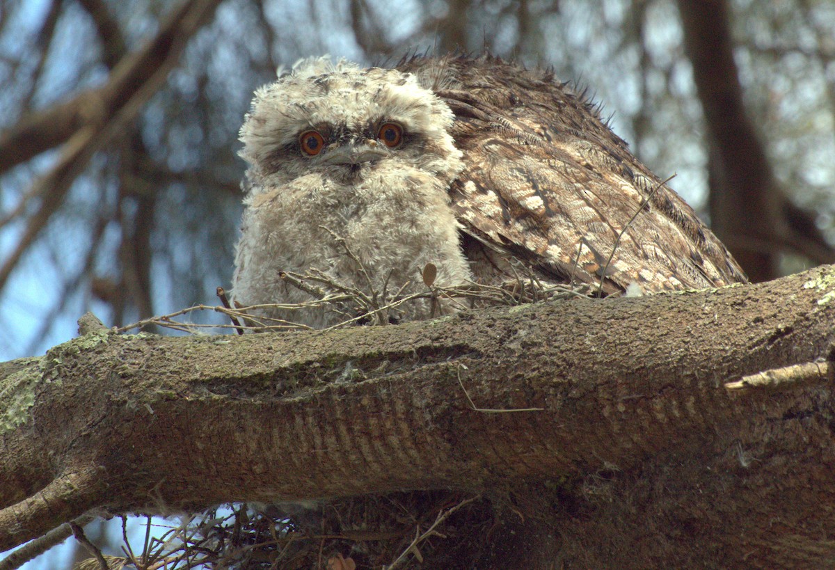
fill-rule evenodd
<path id="1" fill-rule="evenodd" d="M 304 59 L 256 91 L 240 129 L 253 191 L 316 175 L 345 182 L 383 167 L 446 183 L 463 168 L 453 114 L 412 74 Z"/>

